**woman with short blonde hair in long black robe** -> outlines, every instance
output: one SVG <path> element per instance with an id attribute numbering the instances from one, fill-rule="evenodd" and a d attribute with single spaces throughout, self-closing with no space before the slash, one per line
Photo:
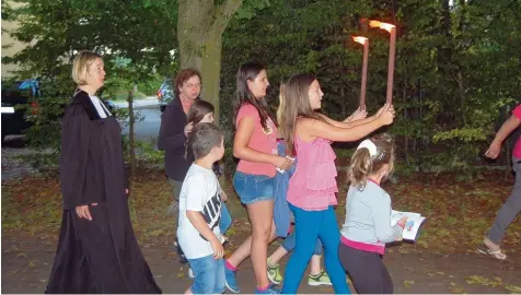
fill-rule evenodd
<path id="1" fill-rule="evenodd" d="M 138 246 L 127 204 L 121 129 L 94 96 L 101 56 L 82 51 L 78 90 L 61 123 L 63 213 L 46 293 L 161 293 Z"/>

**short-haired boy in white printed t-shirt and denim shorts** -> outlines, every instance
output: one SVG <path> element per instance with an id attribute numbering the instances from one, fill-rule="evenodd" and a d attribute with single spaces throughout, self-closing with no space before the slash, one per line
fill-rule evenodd
<path id="1" fill-rule="evenodd" d="M 219 229 L 221 189 L 211 167 L 224 155 L 223 133 L 215 125 L 198 123 L 188 148 L 196 160 L 181 188 L 177 237 L 195 278 L 185 294 L 219 294 L 224 292 L 224 239 Z"/>

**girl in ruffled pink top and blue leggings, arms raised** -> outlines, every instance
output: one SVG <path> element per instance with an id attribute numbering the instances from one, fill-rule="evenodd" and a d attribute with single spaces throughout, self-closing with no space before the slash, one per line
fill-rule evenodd
<path id="1" fill-rule="evenodd" d="M 286 268 L 282 293 L 296 294 L 316 238 L 324 246 L 324 263 L 336 294 L 350 293 L 338 259 L 340 234 L 333 205 L 337 204 L 335 152 L 332 141 L 357 141 L 393 122 L 394 109 L 383 106 L 377 115 L 355 122 L 339 122 L 316 113 L 322 93 L 310 74 L 291 76 L 285 88 L 280 130 L 287 154 L 299 158 L 289 182 L 288 202 L 294 215 L 296 247 Z"/>

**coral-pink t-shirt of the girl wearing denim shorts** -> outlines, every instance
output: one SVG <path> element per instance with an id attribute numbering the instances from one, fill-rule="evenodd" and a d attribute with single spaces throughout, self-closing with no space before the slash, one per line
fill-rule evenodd
<path id="1" fill-rule="evenodd" d="M 236 126 L 244 117 L 250 117 L 255 121 L 255 129 L 253 130 L 252 137 L 247 146 L 266 154 L 277 154 L 277 127 L 275 126 L 271 119 L 267 119 L 266 123 L 268 130 L 264 130 L 260 125 L 260 116 L 258 115 L 257 109 L 250 105 L 244 104 L 241 106 L 238 113 Z M 248 162 L 245 160 L 239 161 L 238 172 L 253 174 L 253 175 L 267 175 L 269 177 L 275 176 L 275 166 L 266 163 L 255 163 Z"/>

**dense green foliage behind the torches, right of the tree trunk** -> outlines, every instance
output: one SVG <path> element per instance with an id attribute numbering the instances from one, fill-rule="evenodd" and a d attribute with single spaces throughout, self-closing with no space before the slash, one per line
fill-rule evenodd
<path id="1" fill-rule="evenodd" d="M 297 72 L 317 76 L 324 113 L 345 118 L 358 105 L 361 48 L 351 35 L 370 39 L 367 104 L 383 102 L 387 33 L 367 28 L 360 17 L 396 23 L 395 123 L 400 161 L 414 170 L 472 170 L 494 134 L 499 109 L 521 97 L 520 3 L 448 0 L 402 1 L 395 8 L 367 1 L 270 1 L 247 21 L 233 20 L 223 43 L 221 105 L 230 105 L 234 73 L 250 59 L 268 66 L 267 97 L 275 109 L 278 85 Z M 420 96 L 421 93 L 421 96 Z M 221 120 L 230 122 L 231 108 Z M 229 123 L 224 126 L 230 126 Z M 229 131 L 230 132 L 230 131 Z"/>

